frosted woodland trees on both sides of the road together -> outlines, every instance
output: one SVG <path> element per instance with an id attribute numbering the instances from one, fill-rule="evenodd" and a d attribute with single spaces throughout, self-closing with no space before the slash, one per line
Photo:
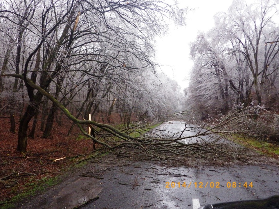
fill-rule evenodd
<path id="1" fill-rule="evenodd" d="M 91 114 L 91 125 L 123 139 L 106 124 L 162 119 L 182 101 L 195 120 L 247 107 L 277 114 L 278 2 L 235 0 L 215 15 L 215 27 L 190 45 L 186 97 L 154 61 L 155 37 L 170 21 L 185 24 L 184 13 L 176 2 L 146 0 L 3 2 L 0 114 L 18 134 L 17 150 L 26 151 L 38 121 L 47 138 L 63 115 L 72 121 L 69 134 L 74 125 L 85 134 Z M 277 117 L 257 123 L 265 121 L 278 127 Z"/>

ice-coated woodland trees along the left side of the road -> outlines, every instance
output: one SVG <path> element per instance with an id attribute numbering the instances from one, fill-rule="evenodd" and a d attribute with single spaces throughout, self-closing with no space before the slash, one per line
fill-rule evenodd
<path id="1" fill-rule="evenodd" d="M 89 114 L 110 123 L 116 113 L 129 125 L 132 116 L 156 119 L 179 106 L 177 83 L 153 61 L 154 37 L 167 30 L 165 21 L 184 24 L 175 2 L 7 0 L 0 6 L 0 111 L 11 118 L 12 132 L 14 115 L 20 117 L 18 151 L 26 151 L 38 120 L 43 137 L 50 136 L 54 120 L 61 122 L 59 109 L 73 124 Z"/>

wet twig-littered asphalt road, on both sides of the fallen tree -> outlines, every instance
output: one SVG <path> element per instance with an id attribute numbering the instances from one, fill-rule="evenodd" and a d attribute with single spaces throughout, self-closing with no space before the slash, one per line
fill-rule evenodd
<path id="1" fill-rule="evenodd" d="M 185 124 L 174 121 L 160 128 L 164 134 L 172 134 L 183 131 Z M 183 134 L 193 135 L 198 131 L 189 129 L 192 133 Z M 74 208 L 91 200 L 81 208 L 197 209 L 207 204 L 279 195 L 278 168 L 278 164 L 175 168 L 105 156 L 79 168 L 60 185 L 19 207 Z"/>

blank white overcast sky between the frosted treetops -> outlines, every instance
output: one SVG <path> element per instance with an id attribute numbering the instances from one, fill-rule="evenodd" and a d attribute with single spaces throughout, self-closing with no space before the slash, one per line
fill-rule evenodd
<path id="1" fill-rule="evenodd" d="M 232 0 L 179 0 L 180 7 L 193 9 L 186 15 L 186 26 L 172 25 L 167 36 L 158 38 L 157 59 L 162 72 L 178 82 L 182 89 L 188 87 L 193 62 L 189 59 L 189 43 L 195 41 L 199 31 L 206 32 L 214 26 L 213 16 L 227 12 Z"/>

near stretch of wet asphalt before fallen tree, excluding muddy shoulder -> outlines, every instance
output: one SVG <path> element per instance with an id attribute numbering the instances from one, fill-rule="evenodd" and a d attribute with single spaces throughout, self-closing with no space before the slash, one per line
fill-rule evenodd
<path id="1" fill-rule="evenodd" d="M 279 194 L 276 166 L 194 169 L 164 168 L 137 162 L 112 168 L 102 177 L 100 198 L 82 208 L 197 209 L 206 204 Z M 243 186 L 245 182 L 247 187 Z"/>

